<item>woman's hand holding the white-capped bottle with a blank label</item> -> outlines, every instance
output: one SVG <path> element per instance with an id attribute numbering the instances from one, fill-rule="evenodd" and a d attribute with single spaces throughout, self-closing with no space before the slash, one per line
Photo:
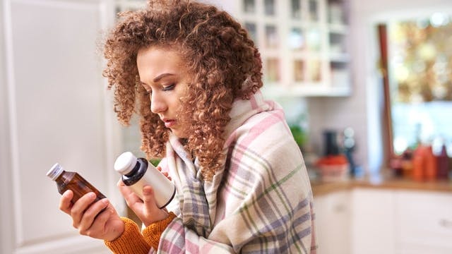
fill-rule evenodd
<path id="1" fill-rule="evenodd" d="M 152 187 L 143 187 L 143 200 L 133 193 L 128 186 L 125 186 L 121 179 L 118 182 L 118 187 L 126 200 L 126 204 L 133 212 L 135 212 L 136 216 L 138 216 L 145 226 L 149 226 L 154 222 L 158 222 L 168 217 L 168 212 L 157 206 Z"/>

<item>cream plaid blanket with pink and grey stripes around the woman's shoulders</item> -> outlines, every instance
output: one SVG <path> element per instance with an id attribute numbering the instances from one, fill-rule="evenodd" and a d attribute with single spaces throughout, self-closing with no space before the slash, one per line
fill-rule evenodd
<path id="1" fill-rule="evenodd" d="M 311 185 L 281 107 L 237 100 L 227 159 L 212 181 L 174 135 L 160 166 L 177 186 L 174 219 L 150 253 L 316 253 Z"/>

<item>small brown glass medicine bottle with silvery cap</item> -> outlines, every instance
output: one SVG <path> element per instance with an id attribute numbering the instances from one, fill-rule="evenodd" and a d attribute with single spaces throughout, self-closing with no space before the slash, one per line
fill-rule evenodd
<path id="1" fill-rule="evenodd" d="M 97 191 L 97 188 L 83 179 L 81 175 L 76 172 L 64 171 L 63 167 L 61 167 L 58 163 L 54 164 L 54 166 L 47 172 L 47 176 L 57 182 L 58 192 L 61 195 L 67 190 L 71 190 L 73 192 L 73 198 L 71 200 L 72 203 L 75 203 L 83 195 L 90 192 L 97 195 L 94 202 L 105 198 L 105 195 L 100 193 L 100 191 Z"/>

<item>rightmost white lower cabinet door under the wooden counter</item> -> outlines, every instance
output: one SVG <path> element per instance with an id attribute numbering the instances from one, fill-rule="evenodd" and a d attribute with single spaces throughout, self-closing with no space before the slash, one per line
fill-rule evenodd
<path id="1" fill-rule="evenodd" d="M 399 253 L 452 253 L 452 194 L 398 191 Z"/>

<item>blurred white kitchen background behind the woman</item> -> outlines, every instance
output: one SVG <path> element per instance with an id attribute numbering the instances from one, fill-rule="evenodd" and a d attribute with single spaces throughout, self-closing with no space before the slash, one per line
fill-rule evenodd
<path id="1" fill-rule="evenodd" d="M 319 253 L 452 253 L 452 2 L 203 0 L 263 60 L 314 191 Z M 129 215 L 102 40 L 139 0 L 2 0 L 0 253 L 109 253 L 79 236 L 45 174 L 78 171 Z"/>

